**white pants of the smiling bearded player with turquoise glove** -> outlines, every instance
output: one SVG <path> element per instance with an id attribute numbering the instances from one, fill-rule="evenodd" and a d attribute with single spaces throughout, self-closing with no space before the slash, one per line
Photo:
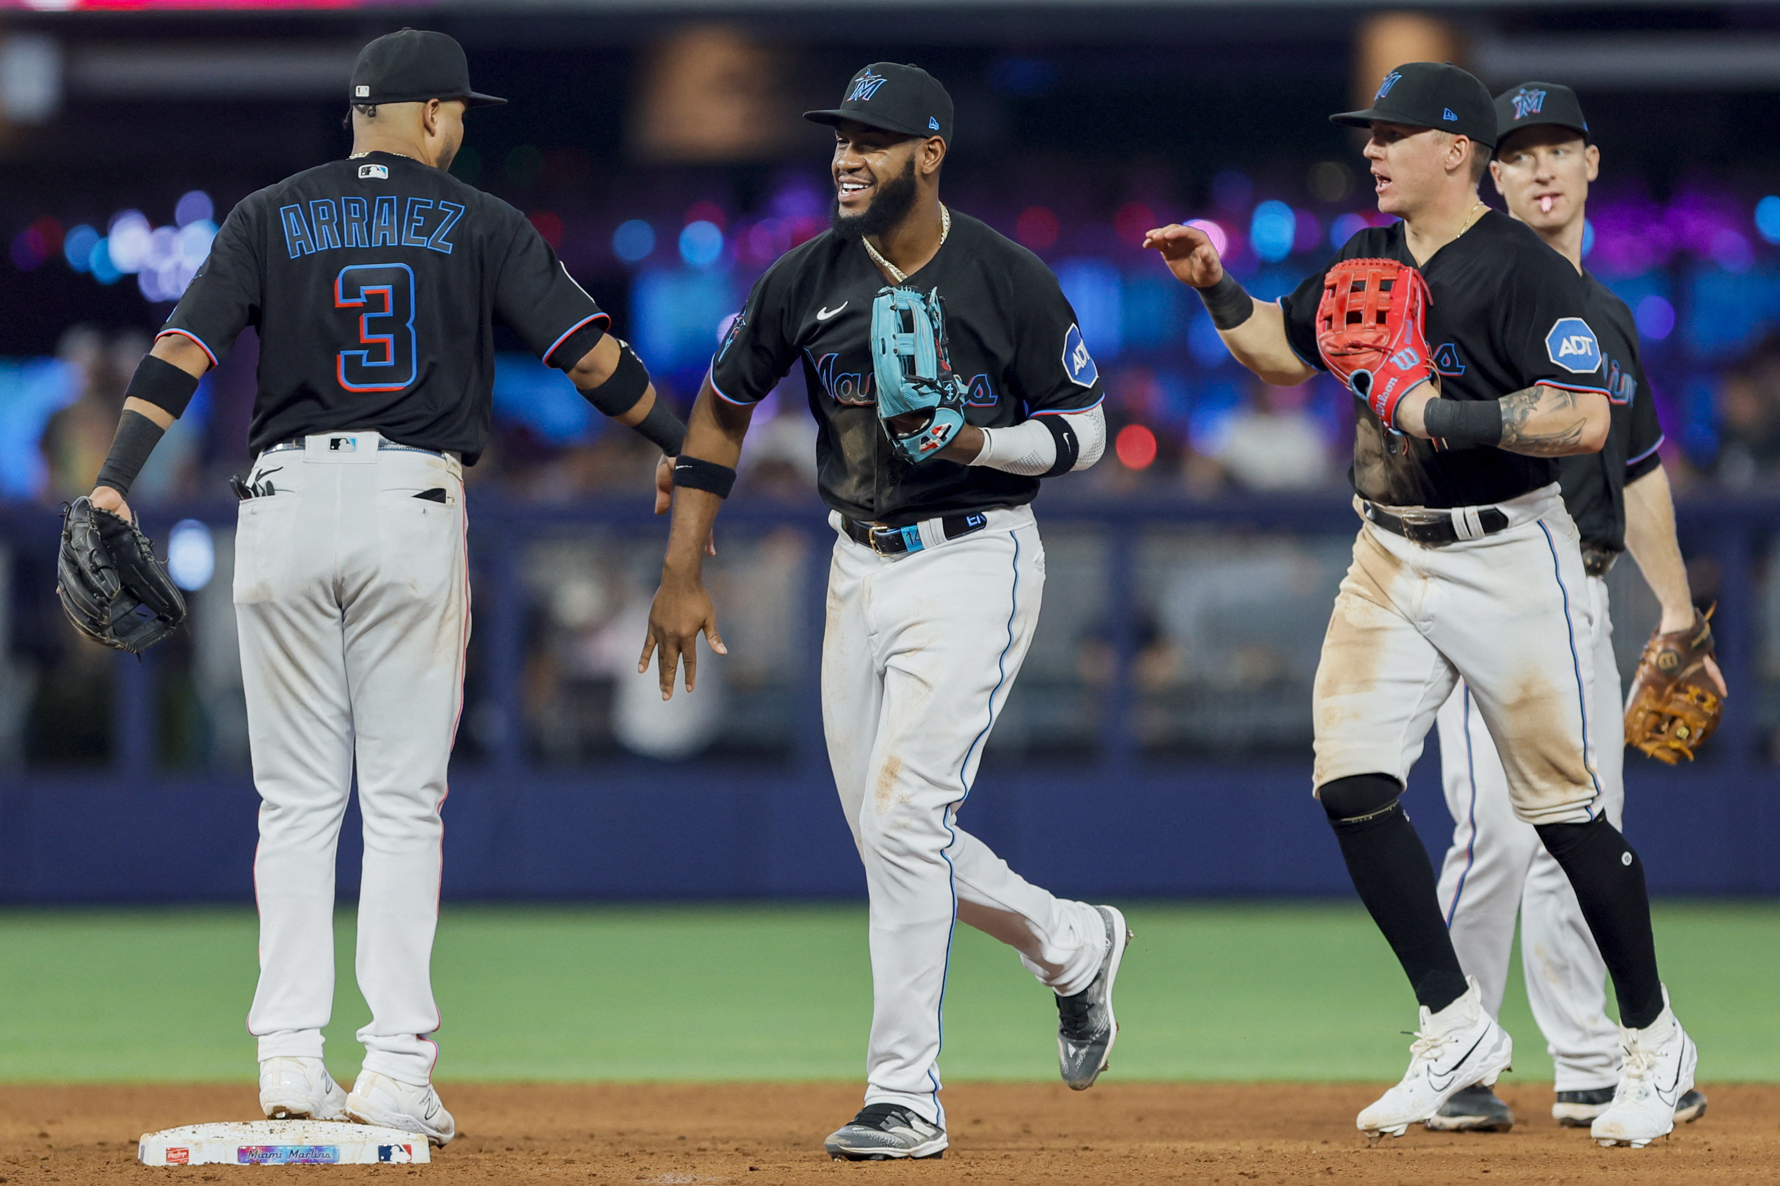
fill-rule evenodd
<path id="1" fill-rule="evenodd" d="M 952 919 L 1000 939 L 1063 996 L 1093 982 L 1105 925 L 958 827 L 983 743 L 1032 642 L 1045 548 L 1031 509 L 990 510 L 947 542 L 883 557 L 835 541 L 822 725 L 870 896 L 867 1104 L 945 1124 L 940 1037 Z M 838 528 L 838 516 L 831 516 Z"/>

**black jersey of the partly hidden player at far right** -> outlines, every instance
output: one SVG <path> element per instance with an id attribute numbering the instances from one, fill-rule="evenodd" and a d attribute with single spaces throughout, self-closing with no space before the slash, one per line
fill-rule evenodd
<path id="1" fill-rule="evenodd" d="M 1600 338 L 1600 356 L 1606 363 L 1613 425 L 1598 453 L 1559 459 L 1558 480 L 1563 484 L 1563 500 L 1582 533 L 1582 542 L 1623 551 L 1625 484 L 1663 464 L 1657 457 L 1663 425 L 1657 423 L 1645 366 L 1638 361 L 1638 322 L 1632 320 L 1632 311 L 1593 276 L 1584 272 L 1582 283 L 1590 297 L 1588 324 Z"/>

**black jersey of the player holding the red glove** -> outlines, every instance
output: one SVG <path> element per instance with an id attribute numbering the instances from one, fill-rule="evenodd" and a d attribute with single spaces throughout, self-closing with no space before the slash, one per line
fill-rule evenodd
<path id="1" fill-rule="evenodd" d="M 1490 210 L 1417 265 L 1403 222 L 1367 228 L 1337 252 L 1340 260 L 1399 260 L 1428 281 L 1428 349 L 1449 400 L 1499 400 L 1534 384 L 1606 391 L 1591 304 L 1570 261 L 1522 222 Z M 1315 315 L 1323 272 L 1287 297 L 1285 334 L 1305 363 L 1328 370 L 1317 352 Z M 1435 448 L 1433 441 L 1387 434 L 1358 400 L 1353 489 L 1392 507 L 1481 507 L 1558 480 L 1547 457 L 1501 448 Z"/>

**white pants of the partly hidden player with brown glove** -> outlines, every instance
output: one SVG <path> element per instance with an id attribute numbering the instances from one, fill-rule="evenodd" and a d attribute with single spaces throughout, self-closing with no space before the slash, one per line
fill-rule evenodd
<path id="1" fill-rule="evenodd" d="M 1607 581 L 1588 578 L 1595 667 L 1590 733 L 1600 807 L 1613 827 L 1625 811 L 1625 718 L 1620 669 L 1613 658 Z M 1620 1081 L 1620 1030 L 1607 1019 L 1607 966 L 1582 919 L 1575 891 L 1545 852 L 1533 825 L 1515 818 L 1495 741 L 1460 685 L 1440 708 L 1440 766 L 1452 846 L 1440 869 L 1440 909 L 1447 916 L 1460 964 L 1477 978 L 1483 1006 L 1499 1015 L 1508 987 L 1515 914 L 1520 914 L 1520 962 L 1533 1017 L 1556 1063 L 1559 1092 L 1588 1092 Z"/>

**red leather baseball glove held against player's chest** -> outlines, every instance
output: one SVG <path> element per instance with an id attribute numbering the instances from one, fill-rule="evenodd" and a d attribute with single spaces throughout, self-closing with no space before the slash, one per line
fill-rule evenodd
<path id="1" fill-rule="evenodd" d="M 1428 281 L 1396 260 L 1342 260 L 1323 277 L 1317 350 L 1387 429 L 1403 397 L 1433 379 L 1428 304 Z"/>

